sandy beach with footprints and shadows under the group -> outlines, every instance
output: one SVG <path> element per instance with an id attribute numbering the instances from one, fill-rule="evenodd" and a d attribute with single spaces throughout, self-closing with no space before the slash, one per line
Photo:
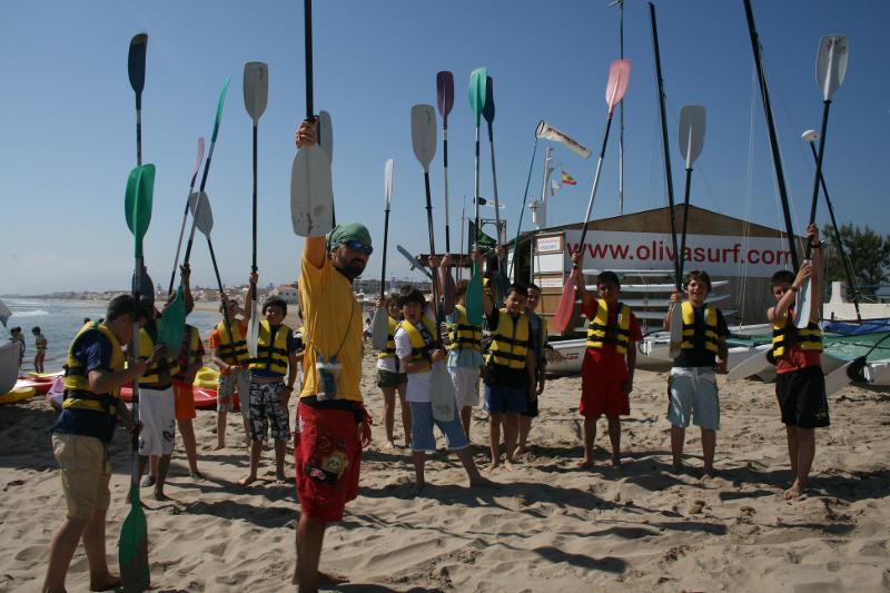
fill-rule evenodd
<path id="1" fill-rule="evenodd" d="M 373 366 L 368 353 L 363 389 L 380 418 Z M 693 429 L 691 471 L 669 472 L 665 382 L 664 373 L 637 373 L 632 416 L 623 424 L 623 467 L 609 467 L 603 419 L 597 466 L 580 471 L 581 379 L 550 380 L 531 453 L 513 472 L 486 474 L 503 484 L 500 490 L 468 490 L 457 459 L 436 454 L 427 463 L 427 490 L 412 498 L 408 452 L 383 452 L 378 425 L 359 496 L 328 530 L 322 569 L 350 579 L 339 591 L 890 589 L 890 393 L 848 387 L 831 397 L 832 425 L 818 431 L 810 492 L 784 502 L 778 495 L 789 484 L 788 455 L 773 386 L 721 379 L 719 474 L 702 480 Z M 39 590 L 50 537 L 65 515 L 47 432 L 55 418 L 42 398 L 0 406 L 0 591 Z M 229 447 L 212 452 L 216 415 L 199 411 L 199 465 L 207 480 L 188 477 L 177 436 L 167 488 L 175 502 L 146 501 L 151 582 L 160 591 L 291 589 L 296 495 L 290 485 L 273 484 L 268 449 L 260 481 L 235 486 L 247 472 L 239 422 L 229 415 Z M 399 442 L 398 422 L 396 432 Z M 473 437 L 487 439 L 481 409 Z M 122 431 L 109 455 L 108 552 L 116 570 L 129 511 Z M 477 453 L 476 463 L 484 471 L 487 455 Z M 87 590 L 82 547 L 67 583 L 69 591 Z"/>

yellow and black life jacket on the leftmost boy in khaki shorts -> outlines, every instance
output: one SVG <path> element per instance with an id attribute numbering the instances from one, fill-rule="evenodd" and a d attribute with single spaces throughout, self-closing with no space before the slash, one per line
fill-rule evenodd
<path id="1" fill-rule="evenodd" d="M 86 373 L 86 360 L 75 357 L 75 350 L 80 345 L 85 336 L 92 332 L 99 332 L 108 342 L 111 343 L 111 360 L 109 370 L 118 373 L 123 370 L 123 350 L 115 334 L 105 324 L 90 322 L 80 328 L 75 336 L 71 346 L 68 347 L 68 359 L 65 363 L 65 398 L 62 409 L 78 408 L 91 409 L 93 412 L 105 412 L 109 416 L 118 413 L 118 395 L 120 389 L 113 389 L 110 394 L 96 394 L 90 388 L 90 379 Z"/>

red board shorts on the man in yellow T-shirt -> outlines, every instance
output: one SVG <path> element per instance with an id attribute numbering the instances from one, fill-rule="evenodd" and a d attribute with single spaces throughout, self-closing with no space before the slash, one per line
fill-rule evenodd
<path id="1" fill-rule="evenodd" d="M 346 503 L 358 496 L 362 444 L 356 411 L 317 408 L 300 399 L 297 418 L 294 464 L 303 513 L 325 523 L 340 521 Z"/>

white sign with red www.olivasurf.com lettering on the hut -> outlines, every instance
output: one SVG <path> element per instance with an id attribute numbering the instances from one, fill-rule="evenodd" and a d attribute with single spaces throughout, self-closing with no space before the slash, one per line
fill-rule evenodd
<path id="1" fill-rule="evenodd" d="M 577 248 L 581 230 L 566 230 L 565 248 Z M 678 248 L 680 237 L 678 237 Z M 688 235 L 684 270 L 703 269 L 714 276 L 769 278 L 791 267 L 788 241 L 779 237 Z M 597 269 L 670 269 L 674 256 L 671 235 L 589 230 L 584 267 Z"/>

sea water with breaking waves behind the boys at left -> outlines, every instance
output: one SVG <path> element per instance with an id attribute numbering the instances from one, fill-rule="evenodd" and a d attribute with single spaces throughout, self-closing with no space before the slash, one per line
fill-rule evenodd
<path id="1" fill-rule="evenodd" d="M 3 298 L 3 303 L 12 312 L 7 327 L 20 326 L 24 336 L 27 350 L 22 362 L 22 370 L 33 370 L 33 359 L 37 348 L 34 348 L 34 336 L 31 328 L 40 327 L 43 335 L 49 340 L 49 349 L 43 363 L 47 373 L 61 370 L 65 357 L 68 354 L 68 346 L 83 325 L 83 318 L 98 319 L 105 317 L 105 305 L 89 300 L 42 300 L 28 298 Z M 207 348 L 207 338 L 220 316 L 217 312 L 196 310 L 188 316 L 188 323 L 197 327 Z M 0 326 L 0 340 L 6 342 L 9 332 Z"/>

